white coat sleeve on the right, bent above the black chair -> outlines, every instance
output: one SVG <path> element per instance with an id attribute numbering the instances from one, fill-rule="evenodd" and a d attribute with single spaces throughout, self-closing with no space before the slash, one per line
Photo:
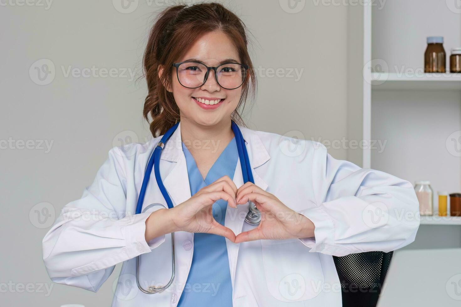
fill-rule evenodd
<path id="1" fill-rule="evenodd" d="M 414 241 L 419 203 L 410 182 L 337 160 L 321 143 L 315 147 L 316 204 L 298 211 L 315 225 L 314 237 L 300 239 L 310 252 L 334 256 L 389 252 Z"/>

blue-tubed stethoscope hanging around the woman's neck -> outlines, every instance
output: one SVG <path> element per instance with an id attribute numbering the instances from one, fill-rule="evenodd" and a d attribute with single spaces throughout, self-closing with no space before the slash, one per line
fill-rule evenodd
<path id="1" fill-rule="evenodd" d="M 177 122 L 173 127 L 168 129 L 168 131 L 163 135 L 162 139 L 160 139 L 160 142 L 157 144 L 157 146 L 155 146 L 154 152 L 149 158 L 149 162 L 146 167 L 146 173 L 144 174 L 144 178 L 142 180 L 141 191 L 139 192 L 138 202 L 136 205 L 136 214 L 141 213 L 142 203 L 144 202 L 144 196 L 146 195 L 146 189 L 147 189 L 147 185 L 148 185 L 149 178 L 152 173 L 153 167 L 154 167 L 155 179 L 157 180 L 157 185 L 159 185 L 159 189 L 162 192 L 163 197 L 165 198 L 166 204 L 168 205 L 169 209 L 173 208 L 173 203 L 171 202 L 171 198 L 168 196 L 168 192 L 165 189 L 165 185 L 163 185 L 163 182 L 160 178 L 159 164 L 160 164 L 160 155 L 161 155 L 162 149 L 165 147 L 166 142 L 168 141 L 168 139 L 170 139 L 173 132 L 175 132 L 178 125 L 179 125 L 179 122 Z M 251 172 L 250 161 L 248 158 L 247 147 L 245 145 L 245 140 L 243 139 L 242 132 L 240 132 L 240 129 L 237 126 L 237 124 L 232 120 L 231 120 L 231 127 L 232 127 L 232 131 L 234 132 L 235 140 L 237 144 L 238 157 L 240 160 L 240 165 L 242 167 L 243 182 L 246 183 L 248 181 L 251 181 L 252 183 L 254 183 L 253 173 Z M 248 209 L 247 215 L 245 216 L 245 221 L 250 225 L 258 225 L 261 221 L 261 213 L 256 208 L 253 202 L 250 202 L 250 207 Z M 138 285 L 139 290 L 141 290 L 142 292 L 146 294 L 161 293 L 173 283 L 174 276 L 175 276 L 174 246 L 175 246 L 174 245 L 174 232 L 172 232 L 171 233 L 171 279 L 163 287 L 155 287 L 151 285 L 148 287 L 147 290 L 141 287 L 141 284 L 139 283 L 139 256 L 136 256 L 136 284 Z"/>

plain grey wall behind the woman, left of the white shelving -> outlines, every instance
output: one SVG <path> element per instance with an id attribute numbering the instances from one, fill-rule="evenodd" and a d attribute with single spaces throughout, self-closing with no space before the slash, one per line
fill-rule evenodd
<path id="1" fill-rule="evenodd" d="M 0 301 L 108 306 L 119 267 L 98 293 L 53 284 L 41 240 L 112 146 L 150 138 L 145 82 L 136 78 L 152 14 L 171 1 L 135 0 L 128 10 L 120 0 L 49 3 L 0 2 Z M 254 35 L 252 57 L 261 67 L 249 127 L 320 141 L 346 137 L 347 7 L 305 1 L 287 12 L 279 1 L 223 3 Z M 54 78 L 41 80 L 37 69 Z M 79 75 L 87 70 L 89 77 Z M 299 80 L 292 70 L 302 71 Z M 346 158 L 345 149 L 330 152 Z"/>

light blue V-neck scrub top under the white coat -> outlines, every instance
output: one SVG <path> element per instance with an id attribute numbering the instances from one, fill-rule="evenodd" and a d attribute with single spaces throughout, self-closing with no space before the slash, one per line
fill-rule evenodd
<path id="1" fill-rule="evenodd" d="M 235 137 L 214 162 L 205 180 L 184 143 L 183 152 L 186 157 L 192 196 L 202 187 L 212 184 L 225 175 L 233 179 L 238 160 Z M 221 225 L 224 225 L 226 208 L 227 202 L 223 199 L 213 204 L 213 217 Z M 189 306 L 232 306 L 231 272 L 225 237 L 201 232 L 194 234 L 192 265 L 178 302 L 178 307 Z"/>

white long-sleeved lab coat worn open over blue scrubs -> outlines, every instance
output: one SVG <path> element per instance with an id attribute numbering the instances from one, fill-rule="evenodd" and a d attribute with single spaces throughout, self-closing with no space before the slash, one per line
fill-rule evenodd
<path id="1" fill-rule="evenodd" d="M 160 175 L 175 206 L 191 197 L 180 129 L 181 124 L 160 160 Z M 419 219 L 408 218 L 408 213 L 419 212 L 419 205 L 407 180 L 334 159 L 318 142 L 240 129 L 255 184 L 312 220 L 315 237 L 240 244 L 226 238 L 233 306 L 341 306 L 332 255 L 389 252 L 414 241 Z M 194 234 L 189 232 L 175 233 L 174 283 L 151 295 L 136 286 L 137 255 L 142 255 L 144 288 L 171 277 L 171 235 L 150 242 L 144 238 L 149 214 L 167 208 L 154 172 L 143 213 L 134 215 L 146 164 L 159 140 L 112 148 L 82 198 L 62 209 L 43 239 L 43 260 L 54 282 L 97 291 L 123 262 L 112 306 L 133 307 L 176 306 L 183 289 L 219 287 L 185 285 L 194 251 Z M 233 181 L 237 187 L 243 184 L 240 162 Z M 253 228 L 244 223 L 247 212 L 248 203 L 228 207 L 225 226 L 236 235 Z"/>

